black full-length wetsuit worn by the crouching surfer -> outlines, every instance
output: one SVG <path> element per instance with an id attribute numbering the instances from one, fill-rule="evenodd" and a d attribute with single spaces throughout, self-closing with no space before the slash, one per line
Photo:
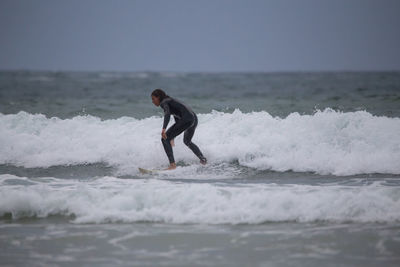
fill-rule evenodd
<path id="1" fill-rule="evenodd" d="M 167 128 L 171 115 L 173 115 L 175 118 L 175 124 L 172 125 L 166 132 L 167 139 L 164 140 L 161 138 L 161 142 L 164 146 L 165 153 L 167 153 L 169 162 L 175 162 L 171 140 L 185 131 L 183 135 L 183 142 L 193 151 L 194 154 L 196 154 L 201 162 L 205 163 L 206 158 L 203 156 L 200 149 L 192 142 L 192 137 L 197 127 L 196 114 L 188 106 L 171 97 L 167 97 L 161 101 L 160 106 L 164 110 L 163 129 Z"/>

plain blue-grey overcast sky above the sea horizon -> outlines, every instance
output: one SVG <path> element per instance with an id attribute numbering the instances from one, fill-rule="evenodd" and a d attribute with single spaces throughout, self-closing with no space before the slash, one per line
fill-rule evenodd
<path id="1" fill-rule="evenodd" d="M 400 1 L 0 0 L 0 69 L 400 70 Z"/>

